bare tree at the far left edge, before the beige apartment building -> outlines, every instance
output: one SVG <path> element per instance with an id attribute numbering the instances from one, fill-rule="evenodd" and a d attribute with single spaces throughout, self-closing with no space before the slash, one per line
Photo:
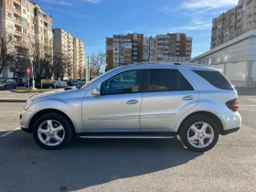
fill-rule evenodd
<path id="1" fill-rule="evenodd" d="M 0 74 L 9 62 L 13 59 L 16 49 L 13 45 L 13 37 L 5 31 L 0 32 Z"/>

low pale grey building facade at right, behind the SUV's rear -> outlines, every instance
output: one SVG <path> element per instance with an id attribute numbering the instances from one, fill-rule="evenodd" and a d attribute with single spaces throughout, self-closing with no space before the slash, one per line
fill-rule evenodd
<path id="1" fill-rule="evenodd" d="M 250 30 L 217 48 L 192 59 L 192 62 L 219 69 L 236 87 L 256 83 L 256 30 Z"/>

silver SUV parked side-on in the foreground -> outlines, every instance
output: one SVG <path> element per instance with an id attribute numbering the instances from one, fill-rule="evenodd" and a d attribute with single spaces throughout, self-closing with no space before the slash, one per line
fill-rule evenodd
<path id="1" fill-rule="evenodd" d="M 124 81 L 124 78 L 131 80 Z M 38 145 L 59 149 L 80 138 L 176 138 L 204 152 L 236 132 L 238 94 L 217 69 L 189 63 L 134 64 L 89 84 L 30 98 L 20 126 Z"/>

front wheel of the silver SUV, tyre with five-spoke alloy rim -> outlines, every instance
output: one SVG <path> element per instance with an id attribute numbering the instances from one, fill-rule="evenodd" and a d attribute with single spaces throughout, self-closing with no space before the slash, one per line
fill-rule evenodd
<path id="1" fill-rule="evenodd" d="M 50 124 L 53 129 L 48 128 Z M 37 119 L 37 122 L 33 125 L 33 137 L 40 147 L 48 150 L 56 150 L 69 144 L 72 138 L 71 126 L 66 117 L 59 113 L 51 112 Z"/>

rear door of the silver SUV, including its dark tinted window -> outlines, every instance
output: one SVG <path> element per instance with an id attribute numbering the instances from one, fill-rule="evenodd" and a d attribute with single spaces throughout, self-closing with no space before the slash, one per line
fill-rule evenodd
<path id="1" fill-rule="evenodd" d="M 197 105 L 199 92 L 178 69 L 149 69 L 143 93 L 142 132 L 173 132 L 178 119 Z"/>

